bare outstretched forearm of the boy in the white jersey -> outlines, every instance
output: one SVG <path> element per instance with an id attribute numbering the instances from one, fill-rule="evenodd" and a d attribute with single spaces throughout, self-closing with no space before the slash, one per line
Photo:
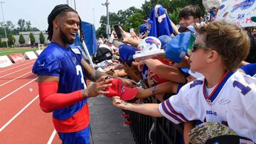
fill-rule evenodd
<path id="1" fill-rule="evenodd" d="M 161 117 L 163 116 L 159 109 L 159 104 L 131 104 L 128 103 L 124 106 L 124 109 L 129 111 L 134 111 L 137 113 L 142 113 L 148 116 Z"/>

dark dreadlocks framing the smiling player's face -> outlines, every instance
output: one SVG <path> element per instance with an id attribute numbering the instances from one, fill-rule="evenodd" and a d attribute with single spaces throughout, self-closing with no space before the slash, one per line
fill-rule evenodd
<path id="1" fill-rule="evenodd" d="M 48 16 L 48 29 L 47 29 L 47 33 L 48 33 L 48 40 L 51 40 L 53 38 L 53 20 L 56 16 L 58 16 L 58 14 L 61 13 L 65 13 L 68 11 L 73 11 L 75 13 L 78 13 L 77 11 L 75 11 L 75 9 L 72 9 L 70 6 L 68 6 L 67 4 L 60 4 L 58 6 L 55 6 L 55 8 L 53 9 L 53 11 L 50 12 L 49 16 Z M 79 20 L 80 20 L 80 40 L 82 41 L 84 39 L 84 33 L 82 31 L 82 21 L 80 16 Z"/>

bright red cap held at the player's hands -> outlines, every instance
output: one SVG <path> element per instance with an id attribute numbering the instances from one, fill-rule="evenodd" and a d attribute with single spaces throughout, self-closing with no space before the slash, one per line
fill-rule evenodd
<path id="1" fill-rule="evenodd" d="M 137 96 L 139 89 L 126 87 L 122 84 L 121 79 L 115 78 L 112 80 L 112 86 L 107 87 L 105 91 L 110 92 L 109 94 L 105 94 L 107 97 L 119 96 L 122 100 L 128 101 Z"/>

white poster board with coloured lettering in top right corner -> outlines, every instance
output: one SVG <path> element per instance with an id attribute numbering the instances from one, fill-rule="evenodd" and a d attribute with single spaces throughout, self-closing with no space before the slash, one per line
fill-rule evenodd
<path id="1" fill-rule="evenodd" d="M 242 27 L 256 26 L 252 16 L 256 16 L 255 0 L 222 0 L 216 20 L 238 23 Z"/>

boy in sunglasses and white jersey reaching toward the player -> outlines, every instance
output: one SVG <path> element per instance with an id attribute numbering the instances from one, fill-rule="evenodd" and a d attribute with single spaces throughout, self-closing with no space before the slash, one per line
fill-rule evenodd
<path id="1" fill-rule="evenodd" d="M 112 103 L 149 116 L 165 116 L 174 123 L 225 123 L 238 135 L 256 142 L 256 79 L 237 71 L 250 49 L 247 33 L 223 21 L 196 31 L 190 68 L 204 77 L 189 82 L 161 104 L 129 104 L 118 96 Z"/>

